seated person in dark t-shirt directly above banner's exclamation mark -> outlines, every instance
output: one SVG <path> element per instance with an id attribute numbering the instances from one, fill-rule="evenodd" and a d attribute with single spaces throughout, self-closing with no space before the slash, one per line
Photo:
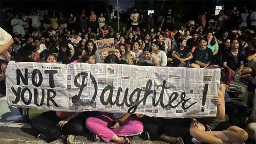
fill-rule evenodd
<path id="1" fill-rule="evenodd" d="M 211 64 L 213 58 L 212 50 L 206 47 L 206 45 L 207 39 L 202 38 L 199 40 L 199 48 L 194 51 L 194 63 L 190 64 L 190 67 L 206 68 Z"/>

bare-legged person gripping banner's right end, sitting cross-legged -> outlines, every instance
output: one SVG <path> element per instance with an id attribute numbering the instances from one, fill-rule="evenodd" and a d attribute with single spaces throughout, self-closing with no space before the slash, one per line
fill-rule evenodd
<path id="1" fill-rule="evenodd" d="M 192 142 L 206 143 L 242 143 L 248 139 L 248 134 L 237 126 L 231 126 L 225 117 L 225 91 L 226 86 L 220 84 L 218 95 L 211 99 L 217 105 L 216 117 L 192 118 L 190 134 Z M 198 121 L 197 121 L 198 120 Z"/>

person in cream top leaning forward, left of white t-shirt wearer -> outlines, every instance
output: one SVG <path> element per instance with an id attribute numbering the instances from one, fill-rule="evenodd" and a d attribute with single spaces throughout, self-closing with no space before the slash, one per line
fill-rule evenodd
<path id="1" fill-rule="evenodd" d="M 143 55 L 139 59 L 139 63 L 149 63 L 153 64 L 155 66 L 160 66 L 159 60 L 155 55 L 152 55 L 152 48 L 151 47 L 146 47 L 143 50 Z"/>

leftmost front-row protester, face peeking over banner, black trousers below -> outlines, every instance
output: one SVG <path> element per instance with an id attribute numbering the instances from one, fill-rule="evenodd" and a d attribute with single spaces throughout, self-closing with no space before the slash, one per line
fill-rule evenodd
<path id="1" fill-rule="evenodd" d="M 45 57 L 47 63 L 57 63 L 53 54 Z M 74 135 L 84 133 L 85 117 L 81 113 L 47 111 L 30 119 L 30 125 L 39 133 L 36 138 L 50 143 L 59 138 L 73 143 Z M 74 134 L 74 135 L 73 135 Z"/>

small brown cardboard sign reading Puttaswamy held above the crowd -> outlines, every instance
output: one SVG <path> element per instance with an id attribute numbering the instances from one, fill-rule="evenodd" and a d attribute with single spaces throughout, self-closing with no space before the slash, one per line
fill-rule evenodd
<path id="1" fill-rule="evenodd" d="M 102 51 L 105 51 L 105 50 L 106 51 L 115 50 L 114 38 L 97 40 L 97 41 L 94 41 L 94 43 L 96 44 L 97 53 L 101 53 Z"/>

